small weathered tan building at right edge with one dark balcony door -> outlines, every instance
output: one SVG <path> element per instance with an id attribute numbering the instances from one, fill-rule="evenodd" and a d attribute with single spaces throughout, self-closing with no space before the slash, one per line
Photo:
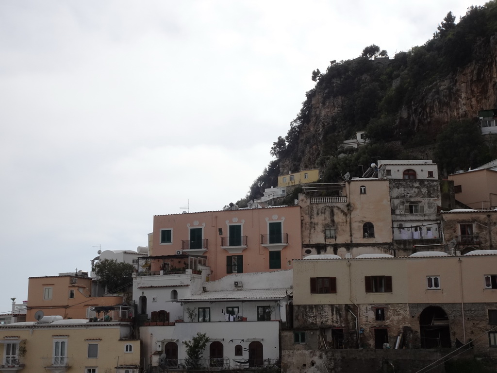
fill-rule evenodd
<path id="1" fill-rule="evenodd" d="M 497 209 L 454 209 L 440 213 L 451 253 L 497 249 Z"/>

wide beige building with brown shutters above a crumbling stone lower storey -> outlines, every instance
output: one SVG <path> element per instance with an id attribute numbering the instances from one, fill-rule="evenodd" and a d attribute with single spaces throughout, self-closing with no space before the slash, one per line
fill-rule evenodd
<path id="1" fill-rule="evenodd" d="M 427 350 L 417 349 L 453 349 L 449 353 L 470 341 L 469 354 L 496 359 L 497 251 L 489 253 L 294 261 L 294 329 L 282 332 L 283 369 L 300 372 L 311 361 L 336 369 L 335 363 L 352 362 L 345 349 L 358 347 L 366 349 L 359 359 L 371 357 L 368 349 L 398 350 L 388 359 L 399 368 L 396 360 L 427 358 Z M 375 365 L 386 357 L 373 355 Z"/>

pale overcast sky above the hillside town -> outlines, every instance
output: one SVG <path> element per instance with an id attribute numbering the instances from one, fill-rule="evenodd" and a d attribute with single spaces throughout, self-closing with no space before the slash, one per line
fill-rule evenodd
<path id="1" fill-rule="evenodd" d="M 29 277 L 245 197 L 314 87 L 469 0 L 0 0 L 0 312 Z"/>

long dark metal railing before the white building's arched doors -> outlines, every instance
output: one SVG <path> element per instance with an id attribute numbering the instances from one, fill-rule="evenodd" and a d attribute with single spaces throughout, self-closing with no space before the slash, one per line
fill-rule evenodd
<path id="1" fill-rule="evenodd" d="M 161 363 L 163 368 L 177 368 L 189 371 L 227 371 L 235 369 L 268 369 L 280 367 L 279 359 L 166 359 Z"/>

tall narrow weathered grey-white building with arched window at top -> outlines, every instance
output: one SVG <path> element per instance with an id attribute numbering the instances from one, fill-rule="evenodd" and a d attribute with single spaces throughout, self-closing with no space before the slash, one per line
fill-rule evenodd
<path id="1" fill-rule="evenodd" d="M 411 254 L 414 246 L 443 244 L 437 165 L 431 160 L 378 161 L 378 177 L 389 181 L 396 256 Z"/>

